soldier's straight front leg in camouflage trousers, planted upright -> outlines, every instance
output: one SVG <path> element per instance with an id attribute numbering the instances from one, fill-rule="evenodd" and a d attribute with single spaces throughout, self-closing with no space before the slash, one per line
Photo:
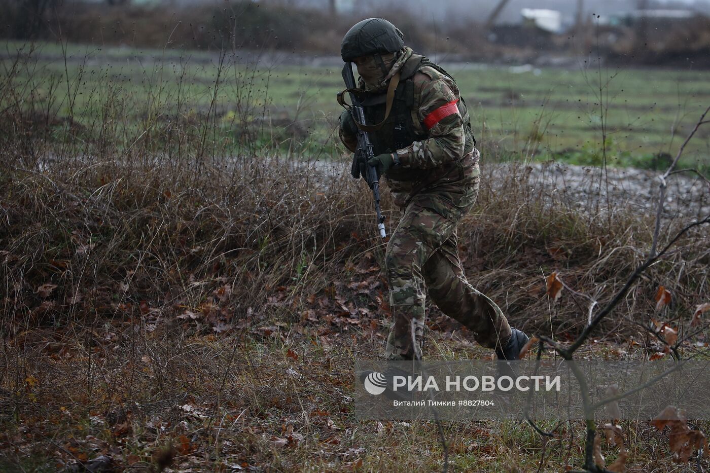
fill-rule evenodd
<path id="1" fill-rule="evenodd" d="M 446 241 L 454 224 L 425 207 L 410 204 L 387 246 L 386 271 L 394 325 L 387 359 L 421 357 L 425 289 L 422 268 Z"/>

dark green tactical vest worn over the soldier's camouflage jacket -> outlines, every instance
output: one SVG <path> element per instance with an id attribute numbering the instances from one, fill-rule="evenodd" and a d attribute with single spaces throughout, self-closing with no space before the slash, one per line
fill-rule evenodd
<path id="1" fill-rule="evenodd" d="M 387 121 L 383 123 L 378 131 L 370 133 L 374 153 L 376 155 L 381 153 L 393 153 L 398 149 L 410 146 L 414 141 L 422 141 L 429 138 L 427 134 L 417 133 L 412 119 L 412 107 L 414 106 L 413 77 L 420 68 L 425 66 L 434 68 L 442 75 L 449 77 L 449 79 L 454 81 L 454 84 L 456 83 L 452 75 L 439 65 L 431 62 L 425 56 L 412 55 L 412 57 L 405 62 L 400 72 L 400 83 L 397 89 L 395 89 L 395 97 Z M 385 116 L 386 93 L 369 95 L 362 101 L 362 105 L 364 107 L 367 123 L 380 123 Z M 476 144 L 476 139 L 471 131 L 471 119 L 463 97 L 461 97 L 457 106 L 459 108 L 459 114 L 461 114 L 461 118 L 464 121 L 464 129 L 466 132 L 466 148 L 464 154 L 466 154 L 471 151 Z M 418 174 L 419 170 L 395 170 L 392 168 L 390 172 L 388 172 L 388 176 L 398 180 L 410 180 L 415 173 Z M 409 176 L 409 174 L 413 175 Z"/>

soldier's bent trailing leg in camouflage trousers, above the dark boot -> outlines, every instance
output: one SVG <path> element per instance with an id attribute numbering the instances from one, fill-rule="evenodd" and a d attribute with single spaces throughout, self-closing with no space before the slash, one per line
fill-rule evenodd
<path id="1" fill-rule="evenodd" d="M 511 333 L 508 320 L 493 300 L 466 281 L 456 232 L 427 260 L 424 275 L 432 300 L 445 315 L 474 332 L 476 342 L 493 349 L 506 345 Z"/>

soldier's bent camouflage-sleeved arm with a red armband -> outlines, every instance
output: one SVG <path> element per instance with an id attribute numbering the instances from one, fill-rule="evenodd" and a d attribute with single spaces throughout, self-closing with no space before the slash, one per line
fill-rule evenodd
<path id="1" fill-rule="evenodd" d="M 442 76 L 417 73 L 415 88 L 420 89 L 419 118 L 429 138 L 397 150 L 404 168 L 435 168 L 456 161 L 464 154 L 466 135 L 457 107 L 457 93 Z"/>

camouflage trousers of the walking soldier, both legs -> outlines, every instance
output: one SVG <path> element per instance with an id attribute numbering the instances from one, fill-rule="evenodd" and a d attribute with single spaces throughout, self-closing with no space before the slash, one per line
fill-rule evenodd
<path id="1" fill-rule="evenodd" d="M 421 357 L 425 288 L 438 308 L 471 330 L 483 347 L 497 348 L 510 338 L 510 325 L 503 312 L 466 281 L 459 260 L 456 230 L 478 195 L 477 164 L 475 171 L 476 179 L 466 183 L 461 192 L 432 192 L 403 208 L 386 252 L 394 317 L 387 359 Z"/>

